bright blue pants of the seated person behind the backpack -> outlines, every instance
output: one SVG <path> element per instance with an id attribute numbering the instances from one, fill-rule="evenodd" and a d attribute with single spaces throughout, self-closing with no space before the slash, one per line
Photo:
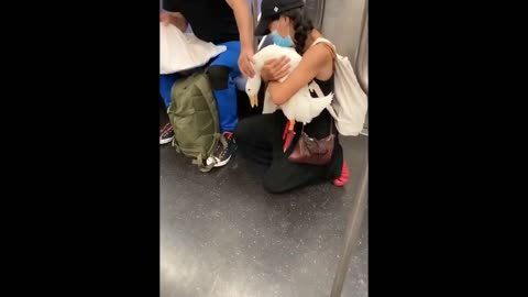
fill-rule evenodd
<path id="1" fill-rule="evenodd" d="M 215 84 L 212 86 L 212 94 L 217 100 L 218 117 L 220 119 L 220 130 L 222 132 L 233 132 L 237 127 L 237 87 L 234 86 L 234 78 L 240 76 L 239 69 L 239 55 L 240 55 L 240 42 L 226 42 L 219 45 L 226 45 L 227 51 L 218 55 L 210 61 L 211 66 L 224 66 L 229 69 L 227 78 L 228 84 L 223 84 L 224 87 L 218 88 Z M 179 78 L 178 74 L 160 75 L 160 94 L 162 95 L 165 106 L 170 105 L 170 89 Z M 215 79 L 211 77 L 211 79 Z M 227 86 L 227 88 L 226 88 Z"/>

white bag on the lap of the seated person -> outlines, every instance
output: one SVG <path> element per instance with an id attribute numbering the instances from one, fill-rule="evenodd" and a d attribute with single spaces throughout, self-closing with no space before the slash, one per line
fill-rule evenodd
<path id="1" fill-rule="evenodd" d="M 205 65 L 212 57 L 226 52 L 224 45 L 184 34 L 173 24 L 160 22 L 160 74 L 173 74 Z"/>

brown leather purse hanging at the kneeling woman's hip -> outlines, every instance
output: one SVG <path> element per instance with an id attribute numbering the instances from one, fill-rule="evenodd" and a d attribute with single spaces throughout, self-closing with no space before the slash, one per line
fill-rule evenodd
<path id="1" fill-rule="evenodd" d="M 336 134 L 332 133 L 333 119 L 330 121 L 330 134 L 321 140 L 309 138 L 305 127 L 294 151 L 288 156 L 292 163 L 327 165 L 332 160 Z"/>

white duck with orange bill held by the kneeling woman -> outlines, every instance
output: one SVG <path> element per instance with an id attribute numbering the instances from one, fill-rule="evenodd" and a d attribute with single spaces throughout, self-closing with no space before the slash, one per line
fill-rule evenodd
<path id="1" fill-rule="evenodd" d="M 264 66 L 264 63 L 268 59 L 279 58 L 282 56 L 287 56 L 289 58 L 289 74 L 297 67 L 297 65 L 299 65 L 301 59 L 301 56 L 295 51 L 295 48 L 283 47 L 275 44 L 262 48 L 253 56 L 253 59 L 255 61 L 255 64 L 253 65 L 255 76 L 253 76 L 253 78 L 249 78 L 245 84 L 245 92 L 250 97 L 251 107 L 255 107 L 258 103 L 256 96 L 258 94 L 258 89 L 261 88 L 261 70 Z M 280 78 L 279 81 L 283 82 L 288 75 Z M 288 130 L 290 132 L 294 130 L 295 121 L 302 122 L 305 124 L 311 122 L 311 120 L 319 116 L 324 108 L 330 106 L 333 94 L 330 94 L 326 97 L 312 98 L 308 85 L 300 88 L 294 96 L 292 96 L 292 98 L 289 98 L 289 100 L 280 106 L 284 116 L 286 116 L 286 118 L 289 120 Z M 271 102 L 270 96 L 266 91 L 266 96 L 264 98 L 264 112 L 266 113 L 266 109 L 267 112 L 273 112 L 276 108 L 277 106 Z"/>

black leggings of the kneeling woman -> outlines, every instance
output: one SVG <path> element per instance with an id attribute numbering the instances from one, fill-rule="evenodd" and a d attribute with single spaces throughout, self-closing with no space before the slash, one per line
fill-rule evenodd
<path id="1" fill-rule="evenodd" d="M 278 194 L 338 178 L 343 164 L 343 150 L 339 140 L 336 140 L 332 161 L 328 165 L 290 163 L 287 158 L 289 152 L 283 152 L 282 132 L 286 121 L 282 111 L 258 114 L 241 120 L 234 131 L 241 155 L 270 166 L 264 177 L 264 188 L 270 193 Z M 296 141 L 297 136 L 293 143 Z"/>

